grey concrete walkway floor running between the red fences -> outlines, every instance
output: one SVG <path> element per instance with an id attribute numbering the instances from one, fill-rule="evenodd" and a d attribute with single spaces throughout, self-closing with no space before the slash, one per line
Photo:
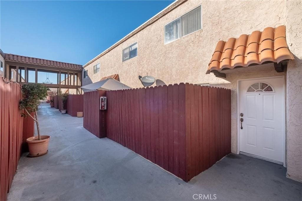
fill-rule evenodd
<path id="1" fill-rule="evenodd" d="M 302 200 L 302 183 L 282 165 L 230 154 L 188 183 L 108 138 L 83 128 L 83 118 L 62 115 L 49 104 L 38 112 L 49 152 L 24 154 L 8 200 Z M 194 198 L 198 198 L 195 195 Z"/>

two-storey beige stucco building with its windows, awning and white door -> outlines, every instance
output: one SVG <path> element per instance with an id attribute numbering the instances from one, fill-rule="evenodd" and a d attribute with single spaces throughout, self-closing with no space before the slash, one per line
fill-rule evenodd
<path id="1" fill-rule="evenodd" d="M 232 152 L 302 181 L 301 10 L 301 1 L 175 1 L 85 64 L 82 83 L 118 74 L 137 88 L 148 74 L 230 88 Z"/>

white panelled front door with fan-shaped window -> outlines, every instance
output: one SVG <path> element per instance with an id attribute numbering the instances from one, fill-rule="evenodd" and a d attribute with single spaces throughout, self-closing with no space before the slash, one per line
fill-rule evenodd
<path id="1" fill-rule="evenodd" d="M 283 163 L 284 76 L 239 81 L 239 107 L 240 152 Z"/>

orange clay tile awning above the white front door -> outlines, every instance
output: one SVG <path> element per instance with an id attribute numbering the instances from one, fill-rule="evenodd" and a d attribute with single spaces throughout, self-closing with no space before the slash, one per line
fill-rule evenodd
<path id="1" fill-rule="evenodd" d="M 293 60 L 285 38 L 285 26 L 267 27 L 239 38 L 217 43 L 206 74 L 213 71 Z"/>

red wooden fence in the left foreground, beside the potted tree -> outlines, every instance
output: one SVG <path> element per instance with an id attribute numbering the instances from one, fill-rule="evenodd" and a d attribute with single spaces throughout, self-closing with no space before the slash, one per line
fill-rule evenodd
<path id="1" fill-rule="evenodd" d="M 0 200 L 7 199 L 21 155 L 20 86 L 0 77 Z"/>

